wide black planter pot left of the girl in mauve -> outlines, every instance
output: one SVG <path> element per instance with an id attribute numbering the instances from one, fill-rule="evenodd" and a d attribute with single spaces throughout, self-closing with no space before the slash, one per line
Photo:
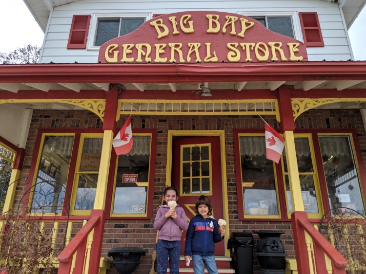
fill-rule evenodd
<path id="1" fill-rule="evenodd" d="M 108 251 L 119 274 L 131 274 L 140 264 L 140 257 L 146 255 L 141 247 L 116 247 Z"/>

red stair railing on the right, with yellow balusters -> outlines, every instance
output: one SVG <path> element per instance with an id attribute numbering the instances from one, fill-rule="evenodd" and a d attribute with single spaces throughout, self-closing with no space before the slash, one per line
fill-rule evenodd
<path id="1" fill-rule="evenodd" d="M 292 213 L 291 221 L 299 274 L 313 273 L 310 272 L 310 268 L 315 268 L 316 273 L 319 274 L 328 273 L 325 256 L 327 256 L 331 262 L 333 274 L 346 274 L 346 259 L 309 222 L 306 212 L 297 211 Z M 313 252 L 313 256 L 311 258 L 309 258 L 305 232 L 312 239 L 313 249 L 311 252 Z M 310 261 L 313 262 L 312 265 L 310 265 Z"/>

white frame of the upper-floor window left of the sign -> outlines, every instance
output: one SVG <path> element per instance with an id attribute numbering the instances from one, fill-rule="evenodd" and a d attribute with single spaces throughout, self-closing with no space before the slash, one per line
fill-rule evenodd
<path id="1" fill-rule="evenodd" d="M 92 14 L 92 23 L 90 27 L 90 35 L 88 37 L 88 51 L 99 51 L 100 47 L 94 46 L 97 37 L 97 26 L 100 18 L 144 18 L 145 22 L 152 18 L 152 13 L 98 13 Z"/>

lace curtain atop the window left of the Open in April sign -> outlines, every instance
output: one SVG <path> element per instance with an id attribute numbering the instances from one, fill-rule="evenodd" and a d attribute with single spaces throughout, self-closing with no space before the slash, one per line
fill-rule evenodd
<path id="1" fill-rule="evenodd" d="M 43 152 L 51 151 L 62 156 L 64 159 L 70 159 L 74 136 L 47 136 L 44 143 Z"/>

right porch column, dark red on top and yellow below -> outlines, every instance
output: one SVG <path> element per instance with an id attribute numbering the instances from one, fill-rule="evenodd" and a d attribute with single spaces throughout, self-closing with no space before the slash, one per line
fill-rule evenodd
<path id="1" fill-rule="evenodd" d="M 304 203 L 301 195 L 299 169 L 297 166 L 294 130 L 295 123 L 292 115 L 291 95 L 288 87 L 278 89 L 278 105 L 281 116 L 280 130 L 284 133 L 287 158 L 288 181 L 292 201 L 292 211 L 304 211 Z"/>

